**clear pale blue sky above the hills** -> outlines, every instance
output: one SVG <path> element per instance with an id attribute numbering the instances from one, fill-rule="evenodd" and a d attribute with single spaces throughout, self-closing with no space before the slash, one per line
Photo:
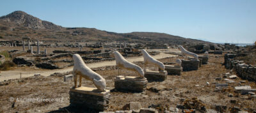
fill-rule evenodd
<path id="1" fill-rule="evenodd" d="M 146 31 L 223 43 L 256 41 L 254 0 L 5 0 L 0 16 L 22 10 L 63 27 Z"/>

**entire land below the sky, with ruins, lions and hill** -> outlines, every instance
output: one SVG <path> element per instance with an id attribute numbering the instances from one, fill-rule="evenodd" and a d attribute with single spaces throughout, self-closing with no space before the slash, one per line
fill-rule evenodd
<path id="1" fill-rule="evenodd" d="M 0 17 L 0 112 L 256 113 L 256 42 Z"/>

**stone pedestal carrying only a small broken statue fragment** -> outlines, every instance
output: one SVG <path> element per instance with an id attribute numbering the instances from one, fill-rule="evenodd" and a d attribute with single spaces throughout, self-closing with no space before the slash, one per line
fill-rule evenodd
<path id="1" fill-rule="evenodd" d="M 181 75 L 181 72 L 182 72 L 181 66 L 164 65 L 164 67 L 168 75 Z"/>

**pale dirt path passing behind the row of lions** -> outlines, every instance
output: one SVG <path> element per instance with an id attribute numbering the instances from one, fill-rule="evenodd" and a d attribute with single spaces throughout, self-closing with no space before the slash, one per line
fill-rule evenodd
<path id="1" fill-rule="evenodd" d="M 160 53 L 156 56 L 153 56 L 155 59 L 162 59 L 165 57 L 173 57 L 176 55 L 172 55 L 172 54 L 164 54 L 164 53 Z M 128 57 L 127 58 L 128 61 L 130 62 L 135 62 L 135 61 L 143 61 L 143 57 Z M 99 68 L 102 66 L 115 66 L 115 61 L 102 61 L 102 62 L 98 62 L 98 63 L 90 63 L 90 64 L 86 64 L 88 67 L 90 68 Z M 17 70 L 10 70 L 10 71 L 3 71 L 1 72 L 1 76 L 0 76 L 0 81 L 3 80 L 9 80 L 9 79 L 19 79 L 20 78 L 20 73 L 22 73 L 22 77 L 31 77 L 33 76 L 35 73 L 40 73 L 41 75 L 44 76 L 49 76 L 52 73 L 65 73 L 65 72 L 70 72 L 73 70 L 73 66 L 70 66 L 68 68 L 63 68 L 63 69 L 59 69 L 59 70 L 33 70 L 30 72 L 22 72 L 22 71 L 17 71 Z"/>

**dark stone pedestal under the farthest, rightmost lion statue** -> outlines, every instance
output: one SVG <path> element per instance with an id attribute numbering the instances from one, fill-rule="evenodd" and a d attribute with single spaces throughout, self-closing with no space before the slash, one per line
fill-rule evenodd
<path id="1" fill-rule="evenodd" d="M 196 59 L 192 59 L 192 60 L 181 60 L 181 66 L 183 68 L 183 71 L 191 71 L 191 70 L 198 70 L 199 68 L 199 64 L 200 64 L 200 60 L 196 60 Z"/>

